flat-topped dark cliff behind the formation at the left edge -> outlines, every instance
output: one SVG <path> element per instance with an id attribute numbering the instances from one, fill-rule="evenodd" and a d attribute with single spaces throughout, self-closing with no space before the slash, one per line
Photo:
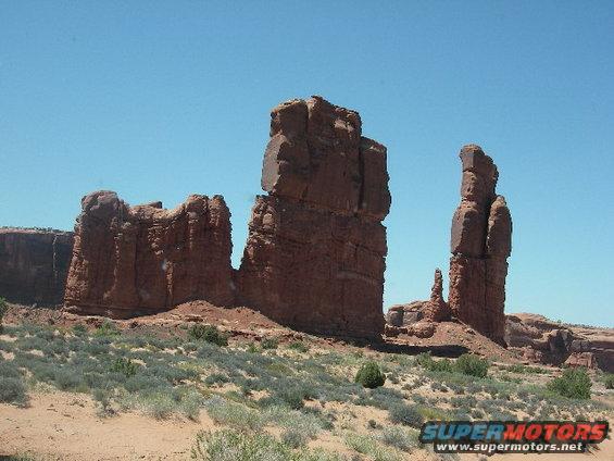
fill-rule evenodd
<path id="1" fill-rule="evenodd" d="M 0 296 L 18 304 L 61 304 L 72 249 L 70 232 L 0 228 Z"/>

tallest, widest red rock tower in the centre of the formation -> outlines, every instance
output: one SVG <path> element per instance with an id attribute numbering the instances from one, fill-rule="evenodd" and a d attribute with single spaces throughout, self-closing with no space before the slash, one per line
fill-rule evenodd
<path id="1" fill-rule="evenodd" d="M 321 97 L 272 112 L 262 188 L 238 282 L 242 301 L 313 333 L 378 337 L 390 194 L 386 148 L 358 112 Z"/>

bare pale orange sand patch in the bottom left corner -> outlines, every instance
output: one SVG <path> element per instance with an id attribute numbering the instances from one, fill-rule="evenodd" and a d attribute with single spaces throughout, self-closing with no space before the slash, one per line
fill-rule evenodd
<path id="1" fill-rule="evenodd" d="M 32 394 L 28 408 L 0 404 L 0 454 L 30 453 L 45 460 L 186 460 L 200 422 L 156 421 L 121 413 L 98 418 L 93 401 L 77 394 Z"/>

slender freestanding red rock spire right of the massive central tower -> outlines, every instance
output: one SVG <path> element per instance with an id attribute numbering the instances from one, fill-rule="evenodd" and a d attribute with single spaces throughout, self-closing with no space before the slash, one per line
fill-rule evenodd
<path id="1" fill-rule="evenodd" d="M 497 196 L 497 166 L 480 147 L 460 153 L 461 204 L 452 219 L 449 304 L 453 314 L 503 344 L 505 277 L 512 250 L 512 219 Z"/>

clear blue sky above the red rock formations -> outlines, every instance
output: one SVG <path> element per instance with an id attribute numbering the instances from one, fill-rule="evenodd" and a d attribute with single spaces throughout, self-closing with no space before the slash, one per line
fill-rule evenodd
<path id="1" fill-rule="evenodd" d="M 514 221 L 506 312 L 613 326 L 613 48 L 611 1 L 0 1 L 0 225 L 222 194 L 238 266 L 270 110 L 322 95 L 388 147 L 386 307 L 447 277 L 476 142 Z"/>

